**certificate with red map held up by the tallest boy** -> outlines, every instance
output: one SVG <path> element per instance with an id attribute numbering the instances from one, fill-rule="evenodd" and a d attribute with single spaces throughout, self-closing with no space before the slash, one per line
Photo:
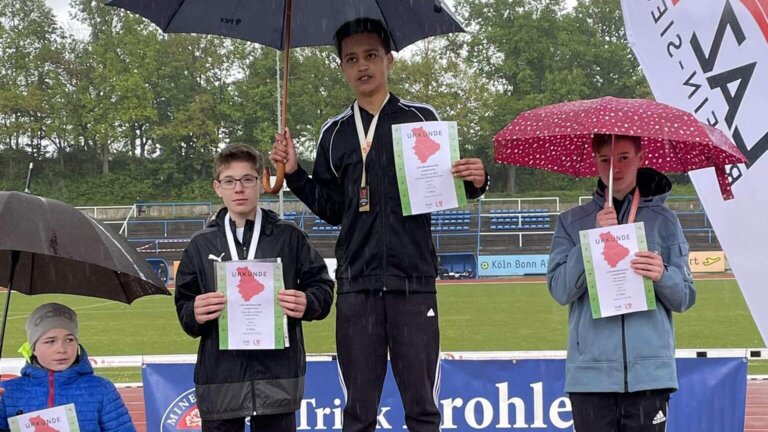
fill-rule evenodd
<path id="1" fill-rule="evenodd" d="M 460 158 L 456 122 L 394 125 L 392 142 L 404 216 L 467 205 L 464 182 L 451 174 Z"/>

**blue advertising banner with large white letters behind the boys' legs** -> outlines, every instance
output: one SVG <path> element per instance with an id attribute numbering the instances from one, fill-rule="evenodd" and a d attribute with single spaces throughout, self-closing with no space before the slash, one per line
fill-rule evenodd
<path id="1" fill-rule="evenodd" d="M 743 358 L 677 360 L 680 390 L 672 394 L 668 431 L 744 429 L 747 362 Z M 200 430 L 192 364 L 147 364 L 147 431 Z M 562 392 L 564 360 L 443 360 L 439 404 L 442 430 L 563 431 L 572 427 Z M 298 430 L 341 430 L 344 396 L 335 361 L 307 364 Z M 384 385 L 378 427 L 405 430 L 391 371 Z"/>

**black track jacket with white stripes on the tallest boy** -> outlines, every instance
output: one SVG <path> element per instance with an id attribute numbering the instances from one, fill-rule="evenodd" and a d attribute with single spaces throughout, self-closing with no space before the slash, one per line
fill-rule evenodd
<path id="1" fill-rule="evenodd" d="M 360 109 L 365 130 L 373 115 Z M 301 167 L 286 176 L 291 191 L 316 215 L 341 225 L 336 242 L 339 294 L 356 291 L 435 292 L 437 256 L 429 214 L 403 216 L 397 186 L 392 125 L 439 120 L 429 105 L 390 95 L 379 115 L 366 158 L 370 211 L 358 210 L 362 155 L 352 107 L 320 132 L 310 178 Z M 464 182 L 468 198 L 488 187 Z"/>

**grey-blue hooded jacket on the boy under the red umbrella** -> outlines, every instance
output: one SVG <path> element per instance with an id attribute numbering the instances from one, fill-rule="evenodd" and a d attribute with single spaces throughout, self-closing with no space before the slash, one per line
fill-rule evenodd
<path id="1" fill-rule="evenodd" d="M 688 243 L 677 217 L 664 206 L 669 179 L 645 168 L 638 171 L 637 184 L 641 201 L 635 222 L 644 222 L 648 250 L 661 253 L 665 266 L 653 284 L 655 310 L 592 318 L 579 231 L 595 228 L 605 203 L 602 182 L 591 202 L 563 212 L 557 220 L 547 282 L 552 297 L 569 306 L 566 392 L 677 389 L 672 312 L 683 312 L 696 301 Z M 617 208 L 620 223 L 626 223 L 632 199 L 629 194 Z"/>

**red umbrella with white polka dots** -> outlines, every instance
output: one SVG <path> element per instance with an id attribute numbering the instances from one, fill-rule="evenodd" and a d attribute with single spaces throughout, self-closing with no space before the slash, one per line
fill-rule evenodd
<path id="1" fill-rule="evenodd" d="M 576 177 L 597 176 L 595 134 L 641 137 L 645 165 L 666 173 L 714 167 L 723 199 L 733 198 L 725 166 L 746 163 L 720 130 L 691 113 L 645 99 L 564 102 L 526 111 L 493 139 L 495 160 Z"/>

